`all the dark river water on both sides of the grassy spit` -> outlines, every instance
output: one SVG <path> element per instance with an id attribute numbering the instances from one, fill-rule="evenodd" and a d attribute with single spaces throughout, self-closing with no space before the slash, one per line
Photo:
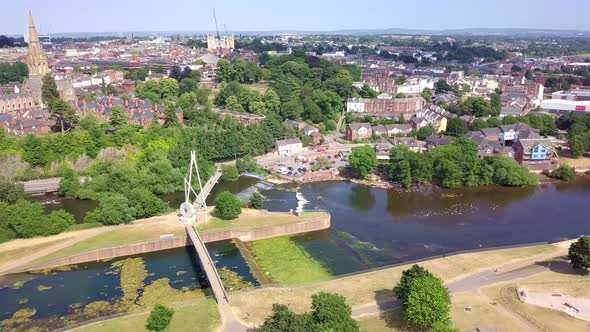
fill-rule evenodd
<path id="1" fill-rule="evenodd" d="M 256 181 L 241 178 L 235 183 L 221 183 L 215 187 L 210 201 L 223 190 L 241 192 Z M 590 234 L 590 177 L 587 176 L 574 183 L 552 182 L 535 188 L 424 187 L 406 191 L 324 182 L 298 188 L 275 187 L 262 193 L 264 208 L 269 210 L 330 212 L 331 229 L 292 239 L 334 275 L 461 250 L 559 241 Z M 171 206 L 183 201 L 181 193 L 162 198 Z M 57 201 L 47 204 L 48 210 L 64 208 L 78 220 L 96 206 L 92 201 L 44 199 Z M 255 282 L 232 242 L 212 243 L 207 247 L 218 267 L 227 266 L 247 281 Z M 150 280 L 166 277 L 173 287 L 208 287 L 191 252 L 181 248 L 142 255 L 147 270 L 154 273 Z M 121 291 L 117 276 L 108 273 L 110 264 L 99 262 L 70 272 L 20 274 L 0 279 L 0 286 L 6 286 L 34 277 L 20 289 L 0 289 L 0 318 L 8 318 L 22 307 L 35 308 L 34 318 L 46 318 L 67 314 L 67 307 L 72 303 L 112 301 L 121 296 Z M 188 273 L 178 276 L 177 270 Z M 40 292 L 39 285 L 52 288 Z M 22 298 L 29 302 L 19 305 Z"/>

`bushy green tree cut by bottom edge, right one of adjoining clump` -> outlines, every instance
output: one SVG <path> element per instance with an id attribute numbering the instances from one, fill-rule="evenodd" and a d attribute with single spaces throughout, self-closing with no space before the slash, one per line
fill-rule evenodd
<path id="1" fill-rule="evenodd" d="M 351 317 L 352 309 L 342 295 L 325 292 L 314 294 L 311 309 L 315 331 L 359 331 L 358 324 Z"/>

